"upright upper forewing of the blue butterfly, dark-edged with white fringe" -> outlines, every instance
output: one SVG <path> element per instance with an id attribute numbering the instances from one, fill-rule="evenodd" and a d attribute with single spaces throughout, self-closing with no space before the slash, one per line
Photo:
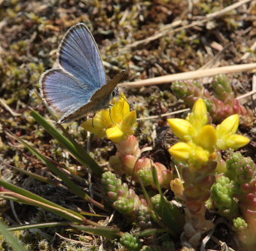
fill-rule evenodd
<path id="1" fill-rule="evenodd" d="M 72 26 L 59 45 L 59 65 L 87 84 L 89 89 L 106 84 L 105 70 L 98 47 L 84 23 Z"/>

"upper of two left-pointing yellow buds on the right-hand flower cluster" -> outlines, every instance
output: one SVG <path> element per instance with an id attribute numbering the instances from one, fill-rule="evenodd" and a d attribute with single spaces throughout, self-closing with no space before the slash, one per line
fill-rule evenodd
<path id="1" fill-rule="evenodd" d="M 189 141 L 194 135 L 193 126 L 185 119 L 167 119 L 172 132 L 181 140 Z"/>

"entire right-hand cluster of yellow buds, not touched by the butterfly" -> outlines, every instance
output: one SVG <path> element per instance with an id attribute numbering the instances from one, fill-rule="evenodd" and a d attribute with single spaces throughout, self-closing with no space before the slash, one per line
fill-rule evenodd
<path id="1" fill-rule="evenodd" d="M 216 129 L 209 122 L 206 103 L 199 98 L 186 119 L 168 119 L 172 132 L 184 142 L 169 149 L 172 157 L 194 166 L 206 164 L 216 154 L 216 150 L 234 150 L 248 144 L 249 139 L 236 135 L 239 126 L 237 114 L 227 117 Z"/>

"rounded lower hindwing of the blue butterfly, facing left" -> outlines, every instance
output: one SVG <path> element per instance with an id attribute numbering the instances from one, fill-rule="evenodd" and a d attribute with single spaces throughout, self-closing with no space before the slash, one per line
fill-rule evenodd
<path id="1" fill-rule="evenodd" d="M 41 76 L 40 85 L 46 103 L 60 114 L 78 110 L 92 96 L 84 83 L 61 69 L 46 71 Z"/>

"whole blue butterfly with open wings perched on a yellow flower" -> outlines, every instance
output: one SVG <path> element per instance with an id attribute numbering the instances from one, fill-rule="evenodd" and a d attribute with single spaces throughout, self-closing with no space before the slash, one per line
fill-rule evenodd
<path id="1" fill-rule="evenodd" d="M 61 116 L 59 123 L 107 108 L 124 74 L 107 83 L 99 49 L 84 23 L 72 26 L 62 38 L 57 64 L 39 83 L 44 102 Z"/>

